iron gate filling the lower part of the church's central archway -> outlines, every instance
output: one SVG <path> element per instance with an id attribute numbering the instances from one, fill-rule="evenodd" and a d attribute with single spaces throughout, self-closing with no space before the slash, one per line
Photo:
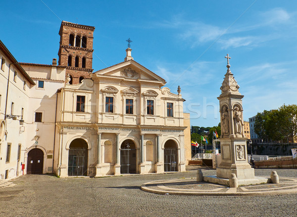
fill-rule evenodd
<path id="1" fill-rule="evenodd" d="M 121 173 L 136 173 L 136 149 L 121 149 Z"/>

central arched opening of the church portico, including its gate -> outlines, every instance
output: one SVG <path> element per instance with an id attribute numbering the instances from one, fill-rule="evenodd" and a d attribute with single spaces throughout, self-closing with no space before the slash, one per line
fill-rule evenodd
<path id="1" fill-rule="evenodd" d="M 121 145 L 121 173 L 136 173 L 136 148 L 131 139 Z"/>

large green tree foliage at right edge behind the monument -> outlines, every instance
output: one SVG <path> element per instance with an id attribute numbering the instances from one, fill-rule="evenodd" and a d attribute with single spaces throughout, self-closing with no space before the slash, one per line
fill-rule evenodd
<path id="1" fill-rule="evenodd" d="M 254 130 L 261 139 L 294 141 L 297 133 L 297 105 L 283 105 L 278 110 L 257 113 Z"/>

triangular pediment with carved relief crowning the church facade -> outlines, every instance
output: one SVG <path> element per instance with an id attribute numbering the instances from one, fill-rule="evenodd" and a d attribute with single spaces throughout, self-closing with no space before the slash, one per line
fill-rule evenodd
<path id="1" fill-rule="evenodd" d="M 157 74 L 153 73 L 152 71 L 148 70 L 143 65 L 139 64 L 134 60 L 120 62 L 116 65 L 112 65 L 110 67 L 101 69 L 93 73 L 92 77 L 118 77 L 122 79 L 135 79 L 135 80 L 150 80 L 150 81 L 157 81 L 162 82 L 163 84 L 166 81 L 158 76 Z"/>

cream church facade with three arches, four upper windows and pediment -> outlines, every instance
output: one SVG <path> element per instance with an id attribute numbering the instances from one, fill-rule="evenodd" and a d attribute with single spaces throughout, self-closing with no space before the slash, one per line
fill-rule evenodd
<path id="1" fill-rule="evenodd" d="M 163 87 L 165 80 L 134 61 L 131 50 L 125 61 L 60 89 L 59 176 L 186 170 L 181 90 Z"/>

